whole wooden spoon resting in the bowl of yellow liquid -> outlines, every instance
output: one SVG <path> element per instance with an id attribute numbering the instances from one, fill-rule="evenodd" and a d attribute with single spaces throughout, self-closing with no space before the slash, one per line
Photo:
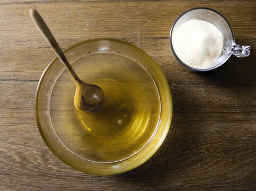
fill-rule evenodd
<path id="1" fill-rule="evenodd" d="M 67 67 L 67 70 L 76 82 L 76 93 L 74 97 L 76 109 L 82 112 L 94 110 L 99 107 L 104 98 L 103 90 L 97 85 L 88 84 L 79 79 L 39 13 L 35 9 L 31 9 L 29 13 L 38 30 L 43 34 L 44 38 L 53 48 L 61 62 Z"/>

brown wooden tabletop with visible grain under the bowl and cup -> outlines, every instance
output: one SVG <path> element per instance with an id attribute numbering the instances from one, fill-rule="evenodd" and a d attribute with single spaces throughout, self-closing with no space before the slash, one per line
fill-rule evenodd
<path id="1" fill-rule="evenodd" d="M 250 45 L 217 70 L 194 73 L 171 57 L 169 31 L 192 7 L 226 17 Z M 145 50 L 166 74 L 171 128 L 153 157 L 121 175 L 74 170 L 48 149 L 35 114 L 37 84 L 55 55 L 29 17 L 36 8 L 63 49 L 105 37 Z M 29 1 L 0 3 L 0 190 L 255 190 L 255 1 Z"/>

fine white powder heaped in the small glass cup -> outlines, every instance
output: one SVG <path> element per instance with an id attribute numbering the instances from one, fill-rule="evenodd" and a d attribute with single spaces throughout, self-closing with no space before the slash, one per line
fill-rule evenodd
<path id="1" fill-rule="evenodd" d="M 193 19 L 177 28 L 172 36 L 172 46 L 186 65 L 209 68 L 220 56 L 223 37 L 213 24 Z"/>

